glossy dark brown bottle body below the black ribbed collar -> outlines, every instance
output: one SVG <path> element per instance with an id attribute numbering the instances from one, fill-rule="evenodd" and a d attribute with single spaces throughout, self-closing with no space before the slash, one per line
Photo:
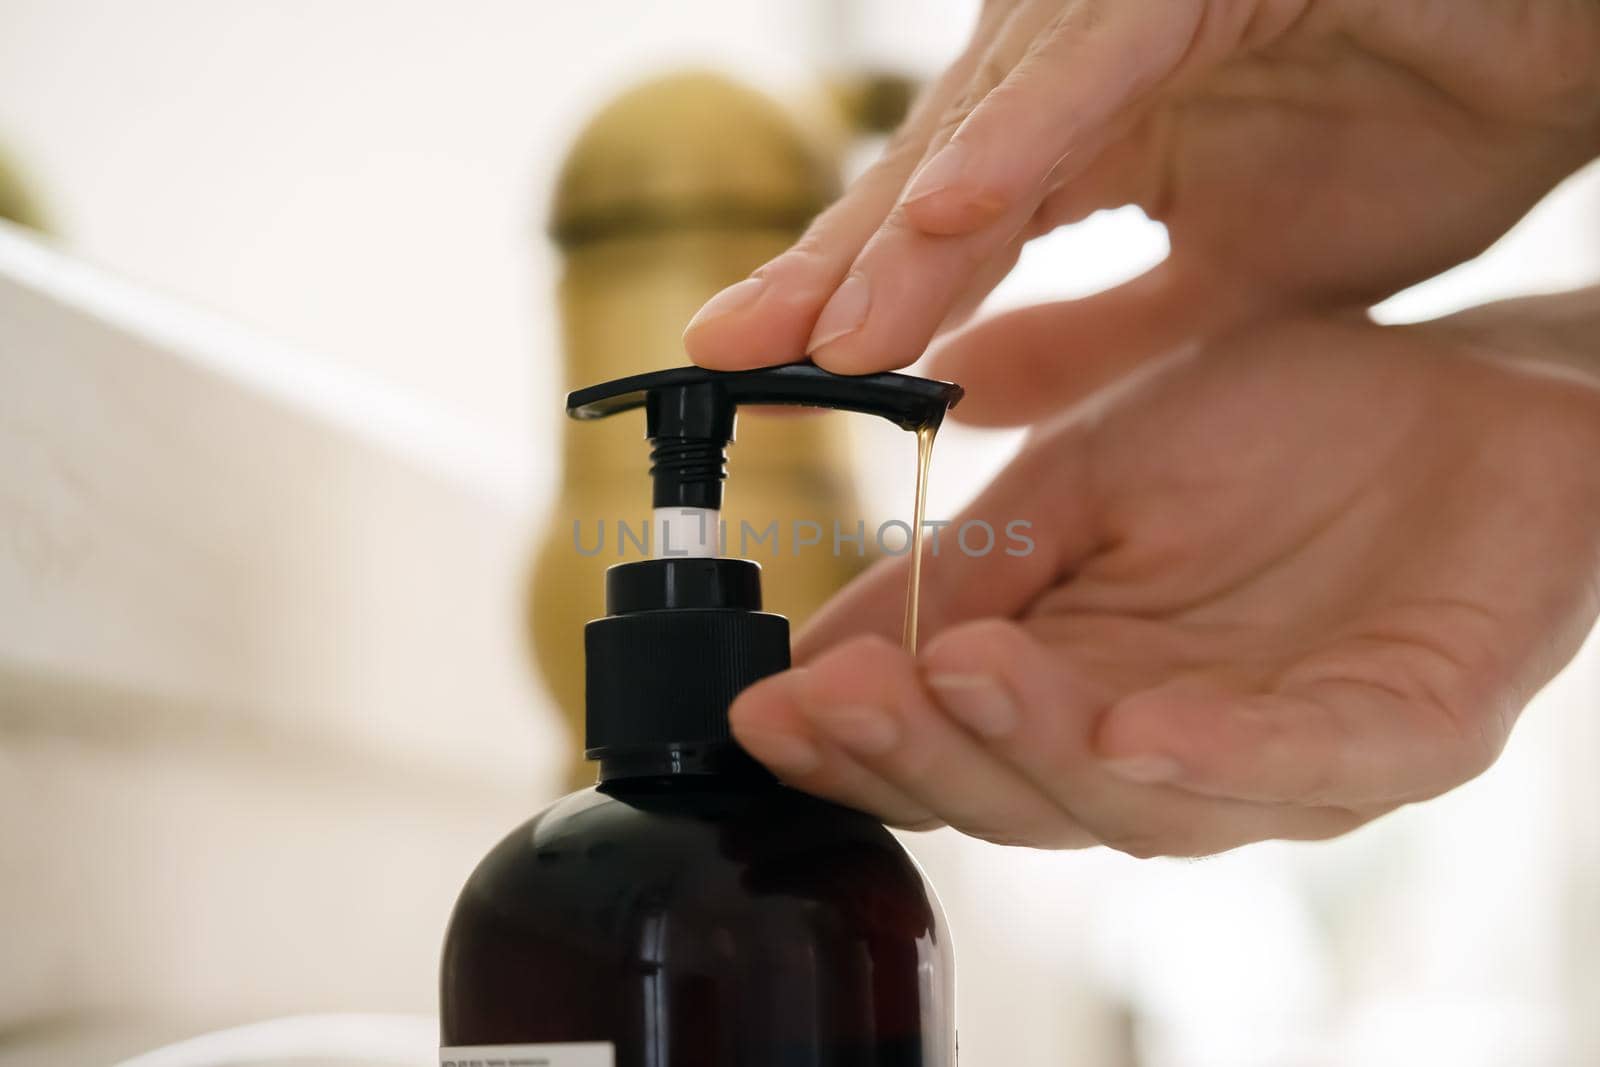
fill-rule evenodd
<path id="1" fill-rule="evenodd" d="M 938 901 L 888 830 L 747 758 L 680 753 L 490 853 L 450 923 L 442 1038 L 610 1043 L 616 1067 L 954 1067 L 952 998 Z"/>

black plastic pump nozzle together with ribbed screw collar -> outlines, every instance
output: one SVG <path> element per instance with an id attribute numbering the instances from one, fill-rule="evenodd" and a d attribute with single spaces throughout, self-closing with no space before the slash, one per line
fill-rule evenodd
<path id="1" fill-rule="evenodd" d="M 742 403 L 862 411 L 922 430 L 960 398 L 960 386 L 909 374 L 678 366 L 579 389 L 566 397 L 566 414 L 645 408 L 654 507 L 715 510 Z M 586 755 L 600 760 L 602 781 L 706 773 L 730 760 L 755 766 L 733 742 L 728 705 L 789 667 L 789 621 L 762 611 L 757 563 L 709 555 L 619 563 L 606 571 L 606 614 L 589 622 L 584 645 Z"/>

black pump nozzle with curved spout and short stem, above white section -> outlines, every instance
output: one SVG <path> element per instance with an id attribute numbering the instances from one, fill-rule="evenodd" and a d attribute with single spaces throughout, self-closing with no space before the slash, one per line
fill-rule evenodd
<path id="1" fill-rule="evenodd" d="M 722 480 L 739 405 L 795 405 L 859 411 L 904 430 L 938 426 L 962 398 L 962 387 L 910 374 L 832 374 L 813 363 L 755 371 L 675 366 L 579 389 L 566 414 L 602 419 L 645 408 L 653 443 L 650 474 L 654 507 L 722 507 Z"/>

